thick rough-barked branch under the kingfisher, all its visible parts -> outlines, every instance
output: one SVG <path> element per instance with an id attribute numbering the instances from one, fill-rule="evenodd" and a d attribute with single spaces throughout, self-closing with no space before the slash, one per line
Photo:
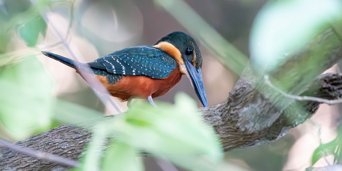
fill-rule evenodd
<path id="1" fill-rule="evenodd" d="M 337 63 L 342 56 L 342 44 L 336 32 L 329 28 L 309 44 L 290 53 L 272 72 L 267 73 L 272 83 L 284 92 L 327 99 L 342 96 L 342 75 L 320 75 Z M 220 90 L 228 91 L 228 90 Z M 303 123 L 318 109 L 319 103 L 295 101 L 264 84 L 263 77 L 249 65 L 237 81 L 225 103 L 200 108 L 206 123 L 211 124 L 221 137 L 225 151 L 270 143 L 284 136 L 290 128 Z M 37 134 L 16 145 L 39 152 L 78 159 L 91 132 L 82 125 L 115 116 L 63 125 Z M 63 170 L 48 161 L 0 149 L 0 170 Z"/>

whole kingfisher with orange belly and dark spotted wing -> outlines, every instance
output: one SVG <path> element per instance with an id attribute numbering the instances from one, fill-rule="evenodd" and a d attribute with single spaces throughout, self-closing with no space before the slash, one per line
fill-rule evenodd
<path id="1" fill-rule="evenodd" d="M 202 105 L 208 107 L 201 74 L 201 52 L 195 40 L 181 31 L 160 38 L 152 46 L 128 47 L 89 63 L 47 51 L 42 53 L 76 69 L 77 73 L 90 67 L 90 74 L 94 74 L 112 96 L 121 102 L 128 100 L 128 106 L 132 98 L 147 98 L 157 107 L 153 98 L 169 92 L 182 75 L 186 75 Z"/>

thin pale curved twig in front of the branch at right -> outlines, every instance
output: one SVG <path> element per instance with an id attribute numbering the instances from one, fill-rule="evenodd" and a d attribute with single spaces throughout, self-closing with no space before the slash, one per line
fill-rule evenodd
<path id="1" fill-rule="evenodd" d="M 336 99 L 336 100 L 329 100 L 329 99 L 325 99 L 325 98 L 319 98 L 319 97 L 312 97 L 312 96 L 297 96 L 297 95 L 292 95 L 292 94 L 288 94 L 285 93 L 284 91 L 278 89 L 277 87 L 275 87 L 271 81 L 269 80 L 269 76 L 265 75 L 264 76 L 264 80 L 265 83 L 273 88 L 274 90 L 276 90 L 277 92 L 281 93 L 282 95 L 284 95 L 285 97 L 289 97 L 295 100 L 299 100 L 299 101 L 313 101 L 313 102 L 319 102 L 319 103 L 325 103 L 327 105 L 336 105 L 336 104 L 340 104 L 342 103 L 342 99 Z"/>

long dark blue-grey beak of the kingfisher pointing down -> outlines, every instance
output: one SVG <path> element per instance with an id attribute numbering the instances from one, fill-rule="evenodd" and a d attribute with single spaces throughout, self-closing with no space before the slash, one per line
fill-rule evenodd
<path id="1" fill-rule="evenodd" d="M 193 64 L 191 64 L 186 57 L 185 59 L 185 70 L 190 79 L 190 82 L 195 89 L 197 97 L 201 101 L 204 107 L 208 107 L 208 100 L 206 95 L 206 90 L 204 89 L 201 68 L 196 69 Z"/>

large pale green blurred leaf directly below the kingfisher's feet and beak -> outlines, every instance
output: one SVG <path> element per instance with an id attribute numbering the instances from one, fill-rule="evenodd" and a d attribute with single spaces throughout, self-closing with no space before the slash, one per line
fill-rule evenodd
<path id="1" fill-rule="evenodd" d="M 175 105 L 134 104 L 113 124 L 118 139 L 137 149 L 188 169 L 202 169 L 223 157 L 219 138 L 203 123 L 196 103 L 185 94 L 176 95 Z M 207 167 L 208 169 L 210 167 Z"/>

